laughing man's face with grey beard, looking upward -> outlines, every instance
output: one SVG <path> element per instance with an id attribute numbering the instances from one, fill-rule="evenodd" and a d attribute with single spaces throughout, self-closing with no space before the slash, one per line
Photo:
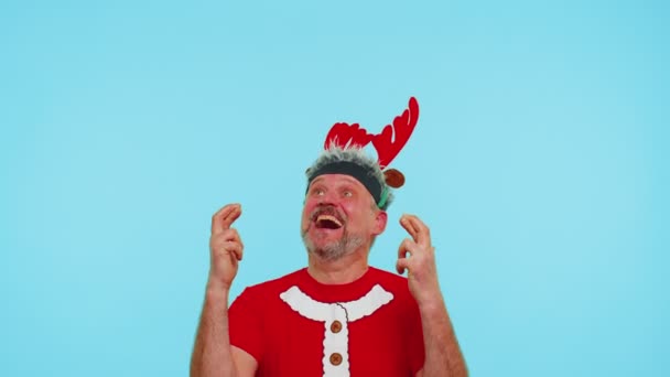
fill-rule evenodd
<path id="1" fill-rule="evenodd" d="M 301 234 L 309 252 L 336 260 L 383 231 L 386 213 L 358 180 L 345 174 L 317 176 L 307 190 Z"/>

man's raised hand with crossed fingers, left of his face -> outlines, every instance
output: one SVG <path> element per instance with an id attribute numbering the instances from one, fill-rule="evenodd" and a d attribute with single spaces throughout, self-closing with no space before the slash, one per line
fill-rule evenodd
<path id="1" fill-rule="evenodd" d="M 244 245 L 233 223 L 241 215 L 239 204 L 228 204 L 212 217 L 209 238 L 209 280 L 213 289 L 230 289 L 237 274 L 238 263 L 242 260 Z"/>

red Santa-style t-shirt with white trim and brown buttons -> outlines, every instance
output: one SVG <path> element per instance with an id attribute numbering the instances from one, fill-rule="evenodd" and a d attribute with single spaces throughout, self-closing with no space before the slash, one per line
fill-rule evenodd
<path id="1" fill-rule="evenodd" d="M 257 376 L 414 376 L 423 333 L 407 279 L 376 268 L 327 286 L 306 269 L 249 287 L 228 312 L 230 343 Z"/>

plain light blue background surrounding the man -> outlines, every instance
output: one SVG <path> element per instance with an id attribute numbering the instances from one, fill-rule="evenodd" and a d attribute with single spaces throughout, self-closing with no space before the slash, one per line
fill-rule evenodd
<path id="1" fill-rule="evenodd" d="M 0 375 L 185 376 L 229 202 L 234 295 L 301 268 L 336 121 L 415 96 L 371 263 L 431 227 L 473 376 L 668 376 L 663 1 L 4 1 Z"/>

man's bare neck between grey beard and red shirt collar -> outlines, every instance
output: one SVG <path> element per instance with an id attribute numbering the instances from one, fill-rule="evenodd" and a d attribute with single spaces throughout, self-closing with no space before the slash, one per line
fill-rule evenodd
<path id="1" fill-rule="evenodd" d="M 307 272 L 322 284 L 347 284 L 358 280 L 368 270 L 368 252 L 359 249 L 337 260 L 323 260 L 307 254 Z"/>

